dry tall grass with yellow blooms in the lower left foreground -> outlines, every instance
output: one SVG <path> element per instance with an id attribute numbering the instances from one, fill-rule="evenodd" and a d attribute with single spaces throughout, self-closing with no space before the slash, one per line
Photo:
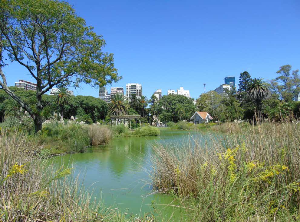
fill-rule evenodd
<path id="1" fill-rule="evenodd" d="M 24 134 L 0 133 L 0 221 L 154 221 L 104 207 L 72 176 L 73 168 L 38 158 L 39 149 Z"/>

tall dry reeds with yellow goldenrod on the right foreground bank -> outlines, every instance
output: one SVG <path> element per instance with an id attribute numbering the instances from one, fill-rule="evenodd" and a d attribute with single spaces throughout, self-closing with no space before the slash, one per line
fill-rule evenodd
<path id="1" fill-rule="evenodd" d="M 297 124 L 269 123 L 205 147 L 158 144 L 153 187 L 181 200 L 186 221 L 299 221 L 299 137 Z"/>

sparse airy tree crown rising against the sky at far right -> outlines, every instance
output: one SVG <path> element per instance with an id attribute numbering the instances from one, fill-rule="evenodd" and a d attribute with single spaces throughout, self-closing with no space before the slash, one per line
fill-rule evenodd
<path id="1" fill-rule="evenodd" d="M 279 96 L 283 102 L 291 102 L 300 93 L 299 70 L 293 70 L 291 65 L 280 66 L 276 72 L 279 76 L 270 81 L 271 91 Z"/>

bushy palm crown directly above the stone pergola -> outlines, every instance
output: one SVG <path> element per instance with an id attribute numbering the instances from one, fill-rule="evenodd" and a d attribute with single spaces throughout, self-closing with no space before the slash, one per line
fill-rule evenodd
<path id="1" fill-rule="evenodd" d="M 110 103 L 107 104 L 108 110 L 112 115 L 119 116 L 127 114 L 129 104 L 127 103 L 126 97 L 122 94 L 115 94 L 111 96 Z"/>

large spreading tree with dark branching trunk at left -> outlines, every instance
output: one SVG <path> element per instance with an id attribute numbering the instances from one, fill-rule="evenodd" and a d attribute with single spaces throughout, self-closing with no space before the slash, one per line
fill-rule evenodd
<path id="1" fill-rule="evenodd" d="M 113 54 L 103 52 L 102 36 L 86 26 L 67 2 L 0 0 L 0 88 L 32 117 L 41 130 L 42 95 L 57 84 L 92 87 L 118 81 Z M 5 59 L 25 67 L 37 84 L 35 108 L 8 88 Z M 0 79 L 1 80 L 1 79 Z"/>

